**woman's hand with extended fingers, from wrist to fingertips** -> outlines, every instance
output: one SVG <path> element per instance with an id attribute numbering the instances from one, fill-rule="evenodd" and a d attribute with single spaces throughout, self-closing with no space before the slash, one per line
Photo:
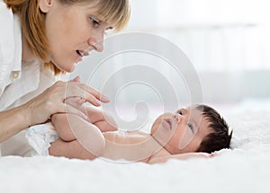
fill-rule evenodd
<path id="1" fill-rule="evenodd" d="M 101 92 L 96 91 L 84 83 L 79 83 L 78 77 L 69 82 L 58 81 L 25 104 L 29 126 L 43 123 L 55 113 L 67 112 L 87 119 L 81 110 L 65 102 L 66 99 L 72 97 L 81 99 L 80 102 L 90 102 L 94 106 L 100 106 L 101 102 L 109 101 Z"/>

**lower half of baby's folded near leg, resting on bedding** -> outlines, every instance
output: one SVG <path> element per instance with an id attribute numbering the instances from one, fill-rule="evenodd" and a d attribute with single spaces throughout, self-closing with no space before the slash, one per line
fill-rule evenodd
<path id="1" fill-rule="evenodd" d="M 65 156 L 67 158 L 78 158 L 93 160 L 97 155 L 89 153 L 85 148 L 74 140 L 65 142 L 60 138 L 51 143 L 49 147 L 49 154 L 54 156 Z"/>

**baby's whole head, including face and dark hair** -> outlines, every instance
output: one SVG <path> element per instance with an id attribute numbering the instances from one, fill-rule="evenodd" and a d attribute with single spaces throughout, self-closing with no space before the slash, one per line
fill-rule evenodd
<path id="1" fill-rule="evenodd" d="M 231 133 L 220 114 L 207 105 L 194 105 L 160 115 L 151 135 L 170 154 L 211 153 L 229 148 Z"/>

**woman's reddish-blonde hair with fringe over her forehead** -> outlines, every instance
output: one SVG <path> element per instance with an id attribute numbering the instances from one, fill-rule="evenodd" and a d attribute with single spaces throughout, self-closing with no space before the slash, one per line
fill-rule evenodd
<path id="1" fill-rule="evenodd" d="M 97 16 L 104 22 L 112 23 L 116 31 L 123 29 L 130 20 L 129 0 L 58 0 L 62 4 L 95 3 Z M 31 52 L 44 61 L 45 66 L 55 75 L 61 73 L 57 66 L 49 60 L 49 43 L 46 37 L 46 13 L 40 11 L 40 0 L 4 0 L 8 8 L 21 18 L 23 36 Z"/>

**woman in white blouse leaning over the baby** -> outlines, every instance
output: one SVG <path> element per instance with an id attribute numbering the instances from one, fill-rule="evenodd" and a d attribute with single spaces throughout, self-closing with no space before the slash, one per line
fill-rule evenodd
<path id="1" fill-rule="evenodd" d="M 26 155 L 21 131 L 46 122 L 52 114 L 85 118 L 65 99 L 80 97 L 95 106 L 109 101 L 77 80 L 56 81 L 58 75 L 72 72 L 89 51 L 103 51 L 104 31 L 121 30 L 129 17 L 128 0 L 0 0 L 3 155 Z"/>

